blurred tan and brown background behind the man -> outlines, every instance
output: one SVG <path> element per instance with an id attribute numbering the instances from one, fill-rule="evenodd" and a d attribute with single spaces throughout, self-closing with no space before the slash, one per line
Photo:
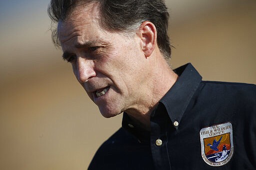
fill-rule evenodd
<path id="1" fill-rule="evenodd" d="M 105 119 L 50 39 L 49 0 L 0 0 L 0 170 L 85 170 L 121 126 Z M 172 68 L 256 83 L 255 0 L 167 0 Z"/>

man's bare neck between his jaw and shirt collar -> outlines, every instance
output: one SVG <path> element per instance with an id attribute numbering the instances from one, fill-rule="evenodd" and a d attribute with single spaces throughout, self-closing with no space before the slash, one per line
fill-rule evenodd
<path id="1" fill-rule="evenodd" d="M 153 68 L 154 72 L 146 83 L 147 88 L 142 90 L 143 97 L 137 102 L 136 107 L 125 111 L 137 126 L 147 131 L 150 131 L 152 111 L 178 78 L 162 56 L 155 57 L 154 62 L 151 62 L 149 66 L 149 71 L 152 72 Z"/>

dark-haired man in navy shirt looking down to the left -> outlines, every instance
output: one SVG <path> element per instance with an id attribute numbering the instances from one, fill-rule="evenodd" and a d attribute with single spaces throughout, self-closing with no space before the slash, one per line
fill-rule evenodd
<path id="1" fill-rule="evenodd" d="M 51 0 L 52 37 L 100 113 L 122 128 L 90 170 L 256 169 L 256 88 L 171 70 L 163 0 Z"/>

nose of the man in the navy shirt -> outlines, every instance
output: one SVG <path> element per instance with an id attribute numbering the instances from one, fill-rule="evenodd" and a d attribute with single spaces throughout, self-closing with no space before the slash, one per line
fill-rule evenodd
<path id="1" fill-rule="evenodd" d="M 77 57 L 76 59 L 76 70 L 75 76 L 79 83 L 84 83 L 91 77 L 96 76 L 94 71 L 94 62 L 93 60 L 88 60 L 82 57 Z"/>

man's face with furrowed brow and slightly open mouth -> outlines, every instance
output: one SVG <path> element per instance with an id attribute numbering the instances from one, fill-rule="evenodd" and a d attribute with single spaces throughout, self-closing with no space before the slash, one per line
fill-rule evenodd
<path id="1" fill-rule="evenodd" d="M 147 84 L 138 36 L 110 33 L 98 24 L 96 3 L 78 6 L 58 23 L 63 57 L 104 117 L 135 109 Z"/>

